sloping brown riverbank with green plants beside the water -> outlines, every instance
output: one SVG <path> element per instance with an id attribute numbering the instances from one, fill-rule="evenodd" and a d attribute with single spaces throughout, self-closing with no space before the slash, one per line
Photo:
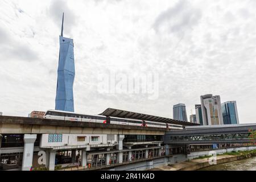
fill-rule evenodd
<path id="1" fill-rule="evenodd" d="M 232 151 L 225 154 L 216 156 L 216 163 L 222 164 L 227 162 L 233 162 L 235 160 L 251 158 L 252 156 L 256 156 L 256 150 L 252 151 Z M 201 156 L 196 159 L 192 159 L 186 162 L 169 164 L 168 166 L 161 166 L 158 168 L 154 168 L 151 170 L 154 171 L 196 171 L 201 168 L 209 167 L 211 164 L 209 163 L 209 158 L 212 156 Z"/>

